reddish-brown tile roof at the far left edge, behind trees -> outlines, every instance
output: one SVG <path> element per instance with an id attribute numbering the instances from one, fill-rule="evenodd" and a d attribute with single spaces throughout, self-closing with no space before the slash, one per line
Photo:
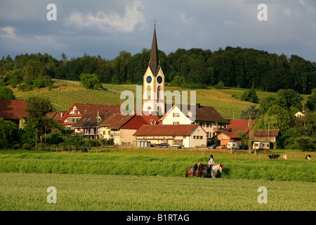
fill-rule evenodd
<path id="1" fill-rule="evenodd" d="M 27 116 L 26 106 L 24 100 L 0 99 L 0 118 L 20 120 L 20 117 Z"/>

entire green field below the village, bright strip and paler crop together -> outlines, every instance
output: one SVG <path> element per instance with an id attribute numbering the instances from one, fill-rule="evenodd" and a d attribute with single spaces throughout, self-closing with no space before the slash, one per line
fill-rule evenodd
<path id="1" fill-rule="evenodd" d="M 224 165 L 218 179 L 185 178 L 186 167 L 206 163 L 207 157 L 144 151 L 2 150 L 0 210 L 316 209 L 314 161 L 231 159 L 228 153 L 213 153 Z M 57 190 L 56 204 L 46 200 L 51 186 Z M 258 203 L 259 187 L 266 188 L 268 203 Z"/>

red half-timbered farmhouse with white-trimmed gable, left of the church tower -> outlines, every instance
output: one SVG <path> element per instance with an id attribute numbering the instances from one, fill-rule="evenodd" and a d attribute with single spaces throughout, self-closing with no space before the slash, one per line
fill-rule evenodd
<path id="1" fill-rule="evenodd" d="M 91 105 L 74 103 L 60 122 L 67 130 L 73 129 L 72 125 L 80 120 L 83 115 L 97 115 L 107 113 L 120 113 L 120 107 L 114 105 Z"/>

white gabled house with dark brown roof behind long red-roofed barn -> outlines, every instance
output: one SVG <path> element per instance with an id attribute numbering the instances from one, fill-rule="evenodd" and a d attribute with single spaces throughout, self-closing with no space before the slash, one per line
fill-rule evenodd
<path id="1" fill-rule="evenodd" d="M 186 106 L 188 115 L 185 115 L 180 108 Z M 229 121 L 225 120 L 213 107 L 195 105 L 195 115 L 191 114 L 190 106 L 173 105 L 171 109 L 160 119 L 162 124 L 199 124 L 208 135 L 208 138 L 214 137 L 220 132 L 226 131 Z M 194 110 L 192 110 L 194 111 Z"/>

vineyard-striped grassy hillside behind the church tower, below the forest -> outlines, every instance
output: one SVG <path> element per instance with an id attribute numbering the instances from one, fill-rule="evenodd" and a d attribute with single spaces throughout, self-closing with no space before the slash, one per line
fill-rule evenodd
<path id="1" fill-rule="evenodd" d="M 69 110 L 73 103 L 88 103 L 99 105 L 121 105 L 125 100 L 120 99 L 121 91 L 129 90 L 136 97 L 136 85 L 114 85 L 103 84 L 105 91 L 89 90 L 81 86 L 80 82 L 55 80 L 51 90 L 34 89 L 32 91 L 19 91 L 14 89 L 14 94 L 19 99 L 29 96 L 44 96 L 51 100 L 56 110 Z M 246 89 L 225 88 L 225 89 L 181 89 L 173 86 L 166 86 L 166 91 L 187 91 L 190 103 L 190 91 L 196 91 L 196 103 L 201 105 L 213 106 L 225 119 L 239 119 L 239 115 L 245 108 L 252 103 L 240 101 L 240 96 Z M 275 94 L 265 91 L 257 91 L 258 98 L 262 100 L 268 95 Z M 302 95 L 304 101 L 307 95 Z M 136 101 L 135 101 L 136 105 Z"/>

